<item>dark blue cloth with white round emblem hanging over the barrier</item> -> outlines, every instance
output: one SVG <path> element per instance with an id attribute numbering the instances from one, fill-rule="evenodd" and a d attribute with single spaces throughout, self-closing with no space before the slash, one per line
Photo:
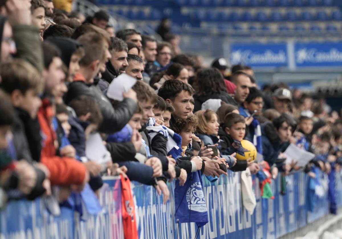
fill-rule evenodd
<path id="1" fill-rule="evenodd" d="M 198 227 L 208 223 L 208 209 L 203 193 L 201 172 L 189 173 L 184 186 L 175 182 L 176 223 L 195 222 Z"/>

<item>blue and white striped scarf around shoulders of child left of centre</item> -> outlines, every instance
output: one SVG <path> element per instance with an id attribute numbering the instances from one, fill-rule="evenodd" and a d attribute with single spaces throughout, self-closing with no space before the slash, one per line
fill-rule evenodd
<path id="1" fill-rule="evenodd" d="M 177 158 L 179 155 L 182 154 L 182 137 L 175 133 L 173 130 L 169 129 L 166 126 L 156 125 L 155 118 L 149 118 L 148 122 L 146 124 L 146 129 L 148 132 L 148 135 L 150 137 L 150 142 L 152 142 L 152 139 L 157 135 L 157 133 L 160 133 L 166 138 L 166 150 L 168 152 L 168 156 L 171 155 L 172 158 Z"/>

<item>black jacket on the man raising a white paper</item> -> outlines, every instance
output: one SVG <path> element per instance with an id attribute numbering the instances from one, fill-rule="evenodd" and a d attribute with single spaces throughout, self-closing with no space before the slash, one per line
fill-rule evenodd
<path id="1" fill-rule="evenodd" d="M 103 133 L 114 133 L 121 130 L 136 111 L 136 102 L 130 98 L 125 98 L 114 110 L 96 83 L 87 85 L 83 81 L 74 81 L 69 84 L 68 92 L 65 95 L 65 103 L 68 104 L 81 95 L 93 97 L 100 105 L 103 121 L 98 131 Z"/>

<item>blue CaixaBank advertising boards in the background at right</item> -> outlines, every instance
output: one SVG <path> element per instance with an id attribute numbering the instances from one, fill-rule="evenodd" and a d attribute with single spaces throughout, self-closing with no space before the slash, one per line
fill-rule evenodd
<path id="1" fill-rule="evenodd" d="M 342 42 L 232 43 L 229 60 L 253 68 L 341 67 Z"/>

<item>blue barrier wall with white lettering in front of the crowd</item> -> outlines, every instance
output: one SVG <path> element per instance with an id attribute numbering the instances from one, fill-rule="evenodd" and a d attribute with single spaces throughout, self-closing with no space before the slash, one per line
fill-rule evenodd
<path id="1" fill-rule="evenodd" d="M 324 185 L 323 174 L 319 175 Z M 336 177 L 338 203 L 342 202 L 341 174 Z M 318 199 L 314 212 L 307 211 L 307 175 L 295 173 L 287 177 L 287 194 L 280 195 L 280 179 L 272 181 L 275 199 L 260 197 L 258 179 L 253 179 L 257 207 L 253 215 L 242 208 L 240 174 L 229 172 L 214 183 L 203 178 L 203 190 L 209 223 L 200 229 L 198 238 L 273 239 L 290 233 L 329 212 L 327 193 Z M 12 238 L 123 238 L 121 184 L 114 177 L 105 178 L 100 202 L 103 210 L 80 220 L 79 214 L 62 208 L 54 217 L 44 207 L 44 201 L 11 201 L 0 212 L 0 239 Z M 194 223 L 174 221 L 174 185 L 170 184 L 170 201 L 162 204 L 162 196 L 151 186 L 132 183 L 136 205 L 136 221 L 140 238 L 194 238 Z M 325 189 L 326 190 L 326 189 Z M 339 205 L 341 206 L 341 205 Z"/>

